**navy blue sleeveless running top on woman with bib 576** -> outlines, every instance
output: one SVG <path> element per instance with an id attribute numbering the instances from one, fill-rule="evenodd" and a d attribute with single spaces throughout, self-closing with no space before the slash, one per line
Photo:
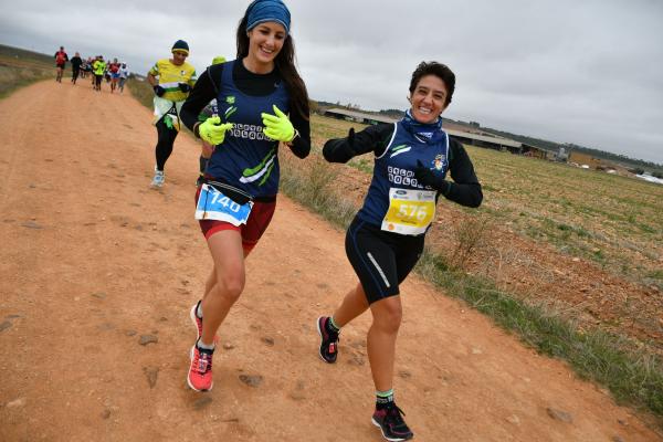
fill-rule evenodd
<path id="1" fill-rule="evenodd" d="M 402 120 L 393 124 L 391 139 L 379 157 L 376 157 L 373 176 L 364 200 L 364 207 L 357 217 L 369 224 L 380 228 L 389 209 L 389 189 L 425 189 L 417 182 L 414 169 L 418 161 L 429 167 L 442 177 L 449 170 L 449 135 L 442 130 L 443 136 L 438 141 L 418 137 L 409 131 Z M 441 129 L 440 129 L 441 130 Z M 435 194 L 435 201 L 440 192 Z"/>

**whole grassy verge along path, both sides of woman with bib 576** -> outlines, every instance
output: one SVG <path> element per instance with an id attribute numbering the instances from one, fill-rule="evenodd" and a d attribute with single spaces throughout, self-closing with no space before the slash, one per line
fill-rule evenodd
<path id="1" fill-rule="evenodd" d="M 306 166 L 282 158 L 281 189 L 335 225 L 346 228 L 357 207 L 334 190 L 335 173 L 318 156 Z M 601 330 L 582 332 L 547 307 L 530 305 L 486 278 L 453 271 L 427 250 L 415 271 L 451 296 L 490 316 L 539 352 L 568 361 L 581 377 L 607 387 L 617 401 L 649 410 L 663 425 L 663 361 L 627 339 Z"/>

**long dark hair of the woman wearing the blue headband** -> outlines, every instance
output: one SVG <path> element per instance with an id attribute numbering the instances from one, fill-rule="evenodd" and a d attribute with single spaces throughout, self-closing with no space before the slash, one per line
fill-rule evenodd
<path id="1" fill-rule="evenodd" d="M 249 55 L 249 35 L 246 33 L 246 14 L 240 20 L 238 25 L 238 60 L 242 60 Z M 304 80 L 299 76 L 297 67 L 295 66 L 295 42 L 293 38 L 287 34 L 283 42 L 283 48 L 276 59 L 274 60 L 287 92 L 291 95 L 291 102 L 293 103 L 293 109 L 304 119 L 308 119 L 308 93 L 306 92 L 306 85 Z"/>

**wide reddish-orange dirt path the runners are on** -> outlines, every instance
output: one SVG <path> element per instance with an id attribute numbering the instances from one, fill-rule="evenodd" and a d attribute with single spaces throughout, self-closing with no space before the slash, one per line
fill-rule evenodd
<path id="1" fill-rule="evenodd" d="M 43 82 L 0 102 L 0 440 L 382 440 L 369 317 L 344 329 L 336 366 L 317 356 L 315 318 L 354 283 L 343 232 L 280 197 L 214 389 L 197 393 L 188 312 L 211 263 L 192 219 L 197 144 L 177 140 L 155 191 L 156 131 L 129 96 Z M 663 441 L 417 277 L 402 292 L 396 388 L 417 440 Z"/>

